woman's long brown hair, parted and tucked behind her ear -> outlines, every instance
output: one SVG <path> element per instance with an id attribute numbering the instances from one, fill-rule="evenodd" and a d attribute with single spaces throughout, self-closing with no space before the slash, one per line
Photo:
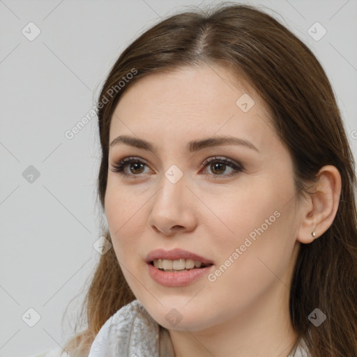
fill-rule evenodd
<path id="1" fill-rule="evenodd" d="M 301 40 L 270 15 L 236 3 L 190 10 L 155 24 L 123 51 L 102 87 L 98 102 L 101 207 L 104 209 L 107 187 L 109 126 L 121 95 L 149 73 L 204 63 L 221 63 L 236 69 L 259 93 L 291 154 L 299 195 L 306 192 L 306 184 L 314 182 L 324 165 L 339 170 L 342 193 L 333 224 L 313 243 L 301 244 L 291 284 L 290 315 L 311 356 L 356 357 L 354 158 L 333 89 L 319 61 Z M 125 84 L 119 85 L 123 77 Z M 103 235 L 111 241 L 109 231 Z M 100 257 L 86 294 L 83 308 L 88 328 L 73 337 L 66 348 L 73 349 L 80 342 L 87 349 L 82 356 L 87 356 L 105 321 L 134 299 L 111 249 Z M 307 319 L 316 307 L 327 317 L 319 327 L 312 326 Z M 80 350 L 78 347 L 77 351 Z"/>

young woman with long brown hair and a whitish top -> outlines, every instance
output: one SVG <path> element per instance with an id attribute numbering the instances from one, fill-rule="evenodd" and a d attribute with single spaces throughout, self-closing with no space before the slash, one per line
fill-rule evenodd
<path id="1" fill-rule="evenodd" d="M 250 6 L 169 17 L 98 118 L 111 248 L 71 356 L 357 356 L 354 160 L 296 36 Z"/>

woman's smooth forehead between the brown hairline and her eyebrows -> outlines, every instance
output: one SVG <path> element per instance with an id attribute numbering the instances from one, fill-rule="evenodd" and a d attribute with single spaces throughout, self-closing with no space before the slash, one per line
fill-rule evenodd
<path id="1" fill-rule="evenodd" d="M 264 102 L 243 78 L 222 66 L 183 67 L 146 75 L 119 100 L 109 141 L 119 134 L 171 141 L 248 135 L 271 130 Z M 254 134 L 254 135 L 253 135 Z"/>

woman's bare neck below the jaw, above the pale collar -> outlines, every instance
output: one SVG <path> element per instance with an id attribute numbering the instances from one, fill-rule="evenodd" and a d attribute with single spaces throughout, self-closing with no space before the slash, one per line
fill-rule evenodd
<path id="1" fill-rule="evenodd" d="M 249 309 L 203 331 L 169 330 L 175 357 L 287 357 L 298 334 L 291 325 L 289 290 L 277 282 Z"/>

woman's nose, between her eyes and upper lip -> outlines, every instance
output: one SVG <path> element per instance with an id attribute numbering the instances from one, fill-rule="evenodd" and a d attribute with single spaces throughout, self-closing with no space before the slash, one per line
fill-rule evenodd
<path id="1" fill-rule="evenodd" d="M 155 234 L 165 236 L 195 229 L 195 195 L 186 186 L 184 176 L 173 183 L 162 175 L 160 188 L 153 196 L 148 225 Z"/>

